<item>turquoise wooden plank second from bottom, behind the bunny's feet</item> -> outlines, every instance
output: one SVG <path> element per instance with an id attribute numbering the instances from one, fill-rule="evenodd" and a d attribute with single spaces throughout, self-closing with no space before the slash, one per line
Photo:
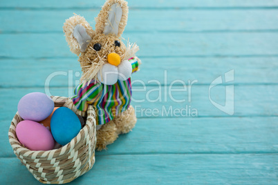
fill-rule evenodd
<path id="1" fill-rule="evenodd" d="M 0 157 L 15 157 L 11 119 L 0 122 Z M 100 155 L 278 153 L 278 117 L 139 118 L 136 127 Z"/>

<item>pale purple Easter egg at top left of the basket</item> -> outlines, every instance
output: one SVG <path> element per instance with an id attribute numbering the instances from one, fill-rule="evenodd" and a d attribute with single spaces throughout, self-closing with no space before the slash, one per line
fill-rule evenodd
<path id="1" fill-rule="evenodd" d="M 29 93 L 17 105 L 19 115 L 26 120 L 41 121 L 48 117 L 54 108 L 53 100 L 44 93 Z"/>

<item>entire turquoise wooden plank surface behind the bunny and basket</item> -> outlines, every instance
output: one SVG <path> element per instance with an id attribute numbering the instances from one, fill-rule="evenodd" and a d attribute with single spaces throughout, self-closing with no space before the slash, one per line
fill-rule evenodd
<path id="1" fill-rule="evenodd" d="M 0 182 L 39 184 L 12 152 L 8 128 L 26 93 L 71 96 L 77 57 L 62 33 L 73 12 L 93 18 L 104 1 L 0 2 Z M 153 0 L 129 1 L 124 38 L 140 46 L 143 65 L 133 80 L 138 108 L 157 108 L 157 115 L 138 112 L 133 132 L 96 153 L 95 166 L 71 184 L 278 184 L 278 1 Z M 212 105 L 209 86 L 234 70 L 234 115 Z M 167 77 L 165 80 L 165 71 Z M 72 75 L 71 75 L 72 74 Z M 68 83 L 68 78 L 73 83 Z M 189 91 L 172 93 L 172 81 L 198 80 Z M 157 80 L 162 84 L 161 95 Z M 225 104 L 225 85 L 212 89 Z M 188 86 L 187 86 L 188 87 Z M 173 88 L 182 89 L 183 84 Z M 165 90 L 166 93 L 165 93 Z M 149 102 L 147 99 L 161 101 Z M 191 106 L 197 117 L 163 114 Z"/>

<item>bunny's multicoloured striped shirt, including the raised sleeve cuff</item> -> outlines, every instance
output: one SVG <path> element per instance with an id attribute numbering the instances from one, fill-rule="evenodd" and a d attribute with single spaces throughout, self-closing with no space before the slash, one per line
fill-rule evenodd
<path id="1" fill-rule="evenodd" d="M 129 59 L 132 72 L 138 70 L 138 60 Z M 90 84 L 78 85 L 72 97 L 73 104 L 78 110 L 85 111 L 92 105 L 96 111 L 97 125 L 106 124 L 115 116 L 127 110 L 131 101 L 131 77 L 125 81 L 118 80 L 111 86 L 91 81 Z"/>

